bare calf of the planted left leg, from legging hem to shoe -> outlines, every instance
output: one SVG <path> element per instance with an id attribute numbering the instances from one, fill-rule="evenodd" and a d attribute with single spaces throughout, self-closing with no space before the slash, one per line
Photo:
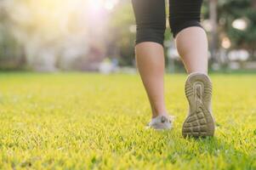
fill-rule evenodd
<path id="1" fill-rule="evenodd" d="M 164 102 L 164 57 L 162 45 L 141 42 L 136 45 L 139 74 L 151 102 L 152 117 L 167 114 Z"/>

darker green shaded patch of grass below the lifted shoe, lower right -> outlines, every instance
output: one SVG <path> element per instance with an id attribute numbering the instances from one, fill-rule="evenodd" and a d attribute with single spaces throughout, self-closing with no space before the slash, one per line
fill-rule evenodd
<path id="1" fill-rule="evenodd" d="M 186 155 L 184 157 L 186 161 L 203 156 L 208 161 L 214 162 L 216 166 L 225 165 L 225 169 L 256 169 L 256 156 L 251 150 L 239 149 L 236 144 L 228 143 L 221 137 L 186 138 L 185 140 L 187 144 L 192 144 L 191 147 L 194 146 L 192 149 L 184 147 L 184 150 L 181 151 Z"/>

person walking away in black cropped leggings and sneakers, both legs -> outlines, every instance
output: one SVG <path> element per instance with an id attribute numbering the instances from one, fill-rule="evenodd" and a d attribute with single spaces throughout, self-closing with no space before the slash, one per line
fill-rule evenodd
<path id="1" fill-rule="evenodd" d="M 165 0 L 132 0 L 137 25 L 136 62 L 151 103 L 148 127 L 170 129 L 164 101 Z M 190 109 L 182 127 L 184 137 L 213 136 L 212 83 L 208 77 L 208 39 L 200 25 L 202 0 L 169 0 L 169 25 L 189 76 L 185 94 Z"/>

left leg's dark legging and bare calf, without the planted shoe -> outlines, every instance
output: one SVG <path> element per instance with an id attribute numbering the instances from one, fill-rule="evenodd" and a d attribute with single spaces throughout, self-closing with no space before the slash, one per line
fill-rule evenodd
<path id="1" fill-rule="evenodd" d="M 136 61 L 151 103 L 152 117 L 166 115 L 164 102 L 164 0 L 133 0 L 137 24 Z"/>

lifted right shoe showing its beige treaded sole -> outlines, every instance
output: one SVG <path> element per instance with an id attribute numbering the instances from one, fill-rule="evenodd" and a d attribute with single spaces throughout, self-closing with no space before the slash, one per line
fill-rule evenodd
<path id="1" fill-rule="evenodd" d="M 186 137 L 207 137 L 214 134 L 211 113 L 212 82 L 207 75 L 191 74 L 185 82 L 185 95 L 190 111 L 183 123 L 182 135 Z"/>

